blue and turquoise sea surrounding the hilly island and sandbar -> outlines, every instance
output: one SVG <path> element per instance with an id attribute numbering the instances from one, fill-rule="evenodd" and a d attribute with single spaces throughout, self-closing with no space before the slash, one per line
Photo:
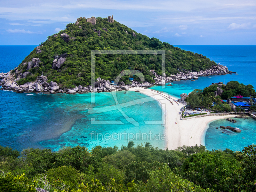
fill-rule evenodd
<path id="1" fill-rule="evenodd" d="M 254 74 L 256 72 L 256 46 L 225 46 L 225 45 L 175 45 L 181 49 L 203 54 L 217 63 L 226 65 L 229 70 L 236 71 L 237 75 L 200 77 L 195 82 L 173 82 L 173 86 L 155 86 L 153 89 L 170 93 L 179 98 L 181 93 L 189 93 L 194 89 L 204 89 L 212 83 L 237 80 L 243 84 L 252 84 L 256 87 Z M 8 72 L 17 67 L 21 61 L 36 47 L 35 46 L 0 46 L 0 72 Z M 137 92 L 117 92 L 119 103 L 145 98 Z M 106 107 L 115 105 L 110 93 L 97 93 L 95 104 L 91 103 L 91 94 L 17 94 L 15 92 L 0 91 L 0 145 L 10 146 L 18 150 L 23 148 L 51 148 L 56 151 L 64 146 L 96 145 L 114 146 L 119 148 L 127 145 L 129 138 L 135 138 L 135 144 L 148 141 L 154 147 L 164 149 L 166 140 L 153 140 L 154 136 L 164 134 L 161 124 L 148 125 L 144 121 L 161 120 L 162 110 L 157 101 L 145 102 L 122 110 L 128 117 L 139 123 L 134 126 L 129 123 L 118 110 L 100 114 L 89 114 L 87 108 Z M 122 124 L 92 124 L 95 121 L 121 121 Z M 120 122 L 119 122 L 120 123 Z M 207 149 L 242 150 L 244 146 L 255 143 L 256 121 L 254 119 L 240 120 L 236 126 L 241 133 L 221 133 L 215 127 L 229 125 L 227 120 L 214 121 L 209 125 L 205 135 Z M 232 125 L 230 125 L 232 126 Z M 93 134 L 92 134 L 93 133 Z M 94 134 L 95 133 L 95 134 Z M 136 140 L 137 133 L 137 140 Z M 142 133 L 144 138 L 142 139 Z M 149 136 L 151 134 L 151 139 Z M 105 135 L 105 138 L 102 138 Z M 98 140 L 97 140 L 98 135 Z M 109 139 L 110 136 L 110 139 Z M 126 138 L 124 138 L 126 136 Z M 148 140 L 146 137 L 148 136 Z"/>

